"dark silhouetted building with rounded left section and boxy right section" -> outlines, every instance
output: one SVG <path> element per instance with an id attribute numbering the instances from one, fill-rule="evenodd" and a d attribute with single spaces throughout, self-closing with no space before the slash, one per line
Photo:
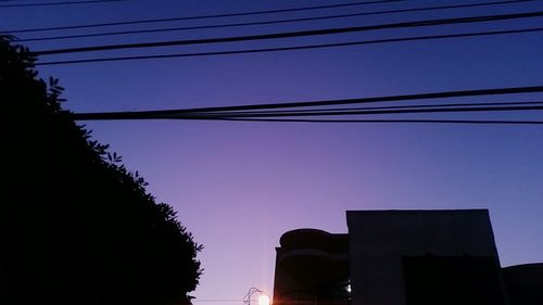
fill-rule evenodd
<path id="1" fill-rule="evenodd" d="M 275 305 L 543 304 L 543 264 L 502 269 L 487 209 L 348 211 L 349 233 L 286 232 Z"/>

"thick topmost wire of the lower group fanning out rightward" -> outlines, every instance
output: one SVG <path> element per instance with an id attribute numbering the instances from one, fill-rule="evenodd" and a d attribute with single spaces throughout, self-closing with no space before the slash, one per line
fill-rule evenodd
<path id="1" fill-rule="evenodd" d="M 477 90 L 460 90 L 445 92 L 430 92 L 416 94 L 386 96 L 359 99 L 345 100 L 325 100 L 312 102 L 290 102 L 290 103 L 272 103 L 272 104 L 251 104 L 236 106 L 215 106 L 215 107 L 195 107 L 181 110 L 163 110 L 163 111 L 143 111 L 143 112 L 102 112 L 102 113 L 75 113 L 76 120 L 97 120 L 97 119 L 146 119 L 146 118 L 168 118 L 172 116 L 182 115 L 199 115 L 211 113 L 227 113 L 233 111 L 253 111 L 253 110 L 281 110 L 281 109 L 300 109 L 300 107 L 316 107 L 316 106 L 336 106 L 345 104 L 364 104 L 378 102 L 399 102 L 429 99 L 447 99 L 463 97 L 481 97 L 481 96 L 503 96 L 518 93 L 535 93 L 543 92 L 543 86 L 532 87 L 510 87 L 510 88 L 492 88 Z"/>

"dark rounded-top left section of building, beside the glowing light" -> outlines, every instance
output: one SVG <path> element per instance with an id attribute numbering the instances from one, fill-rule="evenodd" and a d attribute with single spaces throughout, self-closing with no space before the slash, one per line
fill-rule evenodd
<path id="1" fill-rule="evenodd" d="M 316 229 L 285 233 L 277 247 L 274 304 L 345 305 L 349 237 Z"/>

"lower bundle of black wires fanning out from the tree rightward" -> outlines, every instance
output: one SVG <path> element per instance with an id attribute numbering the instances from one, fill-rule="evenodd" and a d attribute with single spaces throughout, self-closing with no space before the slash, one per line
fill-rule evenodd
<path id="1" fill-rule="evenodd" d="M 375 97 L 349 100 L 329 100 L 316 102 L 253 104 L 219 107 L 198 107 L 167 111 L 146 112 L 108 112 L 108 113 L 76 113 L 72 114 L 76 120 L 97 119 L 190 119 L 190 120 L 232 120 L 232 122 L 275 122 L 275 123 L 433 123 L 433 124 L 502 124 L 502 125 L 543 125 L 543 120 L 513 120 L 513 119 L 419 119 L 419 118 L 392 118 L 392 119 L 333 119 L 330 116 L 338 115 L 386 115 L 386 114 L 414 114 L 414 113 L 452 113 L 452 112 L 495 112 L 495 111 L 541 111 L 543 102 L 498 102 L 498 103 L 455 103 L 455 104 L 429 104 L 429 105 L 400 105 L 390 107 L 365 107 L 365 109 L 317 109 L 302 111 L 269 111 L 275 109 L 300 109 L 308 106 L 331 106 L 339 104 L 377 103 L 407 100 L 427 100 L 459 97 L 496 96 L 543 92 L 543 86 L 514 87 L 497 89 L 479 89 L 432 92 L 419 94 Z M 477 105 L 477 106 L 473 106 Z M 508 105 L 508 106 L 504 106 Z M 384 110 L 387 109 L 387 110 Z M 262 112 L 247 112 L 251 110 L 263 110 Z M 310 116 L 310 118 L 292 118 Z M 327 118 L 315 118 L 326 116 Z M 283 118 L 289 117 L 289 118 Z"/>

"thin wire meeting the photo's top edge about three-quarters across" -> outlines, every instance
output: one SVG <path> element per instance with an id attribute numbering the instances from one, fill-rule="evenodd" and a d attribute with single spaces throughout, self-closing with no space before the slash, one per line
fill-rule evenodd
<path id="1" fill-rule="evenodd" d="M 287 13 L 287 12 L 299 12 L 299 11 L 321 10 L 321 9 L 344 8 L 344 7 L 359 7 L 359 5 L 367 5 L 367 4 L 379 4 L 379 3 L 388 3 L 388 2 L 404 2 L 404 1 L 407 1 L 407 0 L 375 0 L 375 1 L 363 1 L 363 2 L 352 2 L 352 3 L 338 3 L 338 4 L 329 4 L 329 5 L 316 5 L 316 7 L 302 7 L 302 8 L 266 10 L 266 11 L 228 13 L 228 14 L 212 14 L 212 15 L 198 15 L 198 16 L 186 16 L 186 17 L 171 17 L 171 18 L 154 18 L 154 20 L 125 21 L 125 22 L 112 22 L 112 23 L 98 23 L 98 24 L 87 24 L 87 25 L 55 26 L 55 27 L 45 27 L 45 28 L 14 29 L 14 30 L 5 30 L 4 33 L 14 34 L 14 33 L 46 31 L 46 30 L 58 30 L 58 29 L 75 29 L 75 28 L 103 27 L 103 26 L 130 25 L 130 24 L 146 24 L 146 23 L 159 23 L 159 22 L 172 22 L 172 21 L 207 20 L 207 18 L 249 16 L 249 15 L 273 14 L 273 13 Z"/>

